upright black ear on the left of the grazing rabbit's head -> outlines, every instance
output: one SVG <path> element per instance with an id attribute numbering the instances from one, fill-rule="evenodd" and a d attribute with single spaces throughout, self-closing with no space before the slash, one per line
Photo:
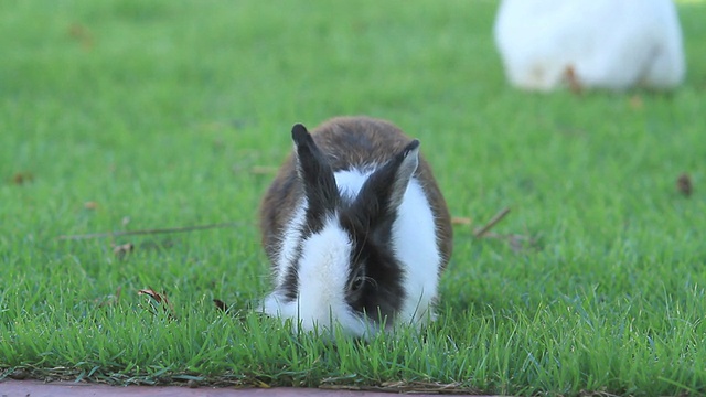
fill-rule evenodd
<path id="1" fill-rule="evenodd" d="M 323 227 L 325 216 L 339 204 L 339 190 L 333 170 L 307 128 L 296 124 L 291 129 L 297 152 L 297 173 L 307 197 L 307 224 L 312 233 Z"/>

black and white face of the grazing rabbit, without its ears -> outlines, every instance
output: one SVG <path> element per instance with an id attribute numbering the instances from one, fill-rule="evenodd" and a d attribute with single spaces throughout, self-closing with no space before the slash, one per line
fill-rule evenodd
<path id="1" fill-rule="evenodd" d="M 266 308 L 307 331 L 339 324 L 362 336 L 392 324 L 404 296 L 400 270 L 384 247 L 365 234 L 354 237 L 341 219 L 330 217 L 302 240 L 300 256 Z"/>

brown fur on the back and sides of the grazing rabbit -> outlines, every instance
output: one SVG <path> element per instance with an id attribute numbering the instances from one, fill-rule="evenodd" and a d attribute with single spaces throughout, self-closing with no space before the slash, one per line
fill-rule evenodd
<path id="1" fill-rule="evenodd" d="M 371 164 L 382 165 L 411 141 L 391 122 L 367 117 L 336 117 L 317 127 L 311 135 L 319 149 L 327 154 L 333 172 Z M 453 247 L 451 217 L 431 169 L 421 155 L 415 176 L 431 205 L 437 227 L 437 245 L 445 267 Z M 277 260 L 281 233 L 303 196 L 303 189 L 297 178 L 292 153 L 279 169 L 260 205 L 263 246 L 272 264 Z"/>

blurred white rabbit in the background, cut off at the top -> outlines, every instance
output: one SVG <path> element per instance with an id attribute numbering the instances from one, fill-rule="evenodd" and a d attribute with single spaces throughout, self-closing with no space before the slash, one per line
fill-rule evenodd
<path id="1" fill-rule="evenodd" d="M 503 0 L 494 37 L 527 90 L 671 89 L 686 73 L 672 0 Z"/>

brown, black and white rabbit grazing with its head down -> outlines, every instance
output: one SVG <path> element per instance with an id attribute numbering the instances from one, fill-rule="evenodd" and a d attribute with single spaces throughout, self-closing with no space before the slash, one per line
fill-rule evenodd
<path id="1" fill-rule="evenodd" d="M 263 312 L 363 339 L 434 319 L 452 229 L 419 141 L 367 117 L 291 135 L 260 206 L 275 283 Z"/>

